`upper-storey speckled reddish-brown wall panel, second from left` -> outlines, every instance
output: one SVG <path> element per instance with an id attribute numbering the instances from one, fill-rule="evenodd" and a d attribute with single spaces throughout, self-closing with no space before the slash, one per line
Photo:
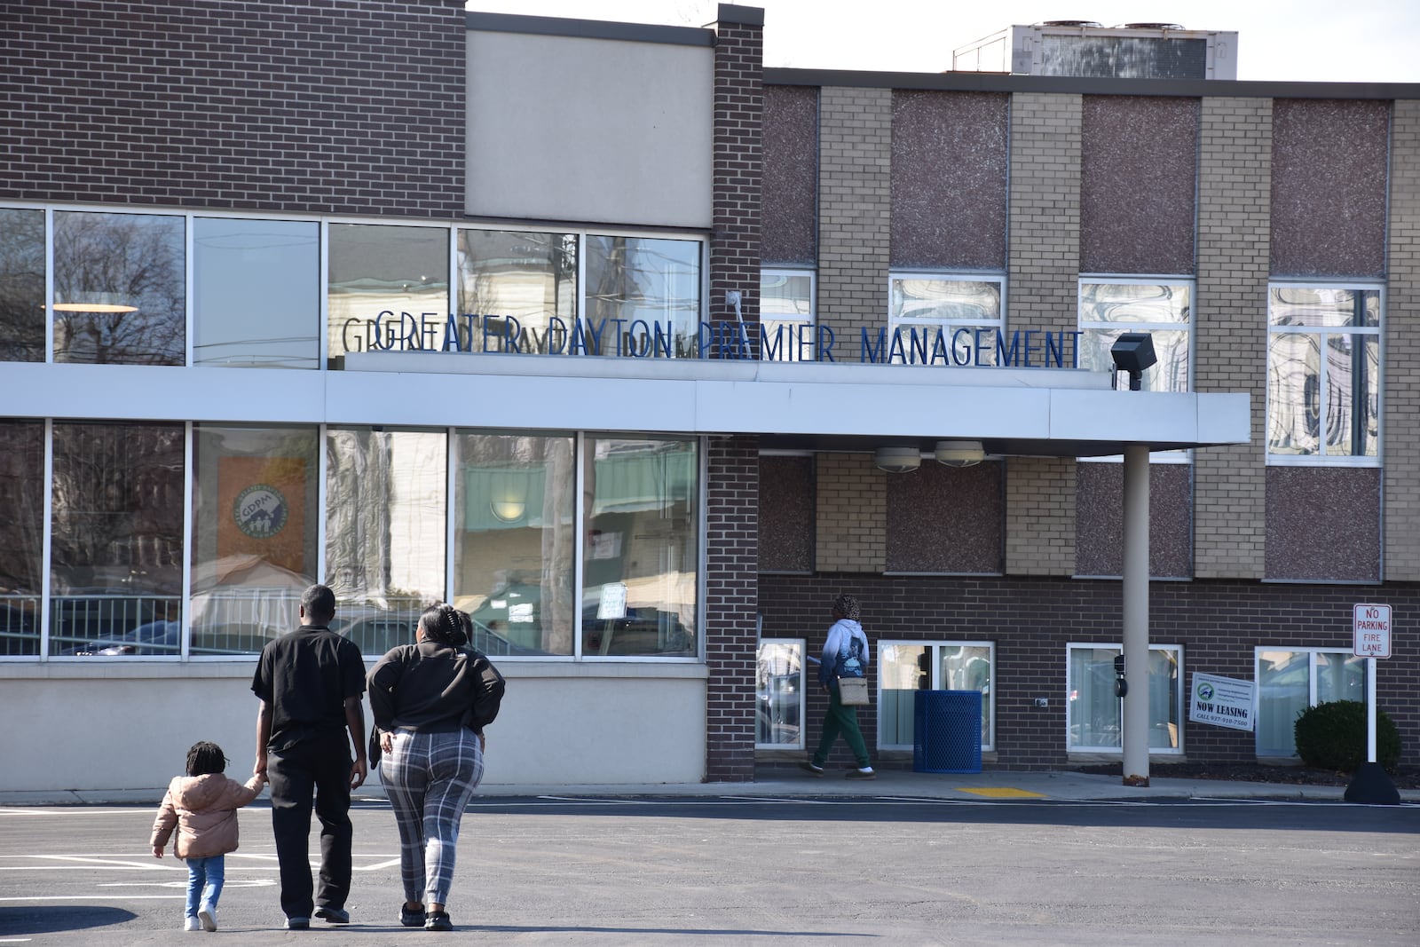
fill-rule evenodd
<path id="1" fill-rule="evenodd" d="M 896 91 L 892 266 L 1005 268 L 1010 98 Z"/>

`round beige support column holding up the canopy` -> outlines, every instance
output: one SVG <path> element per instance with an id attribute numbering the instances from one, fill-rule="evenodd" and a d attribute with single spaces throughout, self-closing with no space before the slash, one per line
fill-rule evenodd
<path id="1" fill-rule="evenodd" d="M 1125 447 L 1125 785 L 1149 785 L 1149 449 Z"/>

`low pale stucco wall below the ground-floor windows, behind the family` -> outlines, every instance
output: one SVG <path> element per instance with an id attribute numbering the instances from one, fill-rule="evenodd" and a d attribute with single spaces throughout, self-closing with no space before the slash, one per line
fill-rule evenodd
<path id="1" fill-rule="evenodd" d="M 0 664 L 0 792 L 153 789 L 199 740 L 250 775 L 251 662 L 85 659 Z M 484 787 L 704 779 L 706 669 L 646 663 L 503 663 Z M 368 723 L 366 704 L 366 723 Z M 378 778 L 375 782 L 378 789 Z M 155 797 L 156 798 L 156 797 Z"/>

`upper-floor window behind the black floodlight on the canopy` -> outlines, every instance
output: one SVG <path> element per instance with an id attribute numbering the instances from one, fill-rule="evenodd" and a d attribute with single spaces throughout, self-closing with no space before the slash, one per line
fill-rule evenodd
<path id="1" fill-rule="evenodd" d="M 1143 372 L 1146 392 L 1187 392 L 1193 348 L 1193 280 L 1187 277 L 1081 277 L 1079 366 L 1112 372 L 1109 349 L 1125 332 L 1147 332 L 1157 362 Z M 1120 372 L 1115 388 L 1129 389 Z"/>

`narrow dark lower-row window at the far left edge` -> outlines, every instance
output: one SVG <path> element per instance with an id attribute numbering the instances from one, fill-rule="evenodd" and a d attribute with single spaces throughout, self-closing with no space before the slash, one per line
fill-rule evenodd
<path id="1" fill-rule="evenodd" d="M 40 310 L 43 312 L 43 310 Z M 40 653 L 44 425 L 0 423 L 0 655 Z"/>

